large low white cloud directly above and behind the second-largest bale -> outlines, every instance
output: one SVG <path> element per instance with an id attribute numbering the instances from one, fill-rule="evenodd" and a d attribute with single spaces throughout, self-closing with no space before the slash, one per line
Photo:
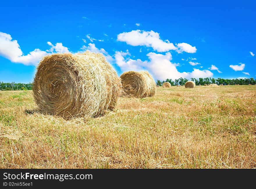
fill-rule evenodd
<path id="1" fill-rule="evenodd" d="M 141 59 L 133 60 L 129 56 L 130 53 L 128 50 L 126 52 L 117 51 L 114 55 L 116 64 L 120 67 L 121 71 L 129 70 L 148 70 L 154 79 L 177 79 L 184 77 L 190 79 L 191 77 L 212 77 L 213 73 L 209 70 L 199 70 L 193 69 L 192 72 L 179 72 L 176 66 L 179 66 L 179 63 L 172 63 L 172 55 L 170 52 L 165 54 L 157 54 L 150 52 L 147 54 L 148 59 L 142 61 Z"/>

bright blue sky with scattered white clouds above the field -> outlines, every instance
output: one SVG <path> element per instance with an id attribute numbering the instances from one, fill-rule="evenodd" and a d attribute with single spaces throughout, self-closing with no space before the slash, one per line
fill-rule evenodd
<path id="1" fill-rule="evenodd" d="M 0 81 L 28 83 L 42 56 L 101 52 L 118 75 L 256 78 L 255 1 L 1 2 Z"/>

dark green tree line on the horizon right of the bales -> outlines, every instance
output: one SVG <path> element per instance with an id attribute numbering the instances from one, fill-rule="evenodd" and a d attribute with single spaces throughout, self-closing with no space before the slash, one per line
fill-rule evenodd
<path id="1" fill-rule="evenodd" d="M 169 82 L 171 85 L 185 85 L 185 83 L 189 81 L 186 78 L 180 77 L 179 79 L 166 79 L 165 81 L 160 81 L 157 80 L 157 85 L 162 86 L 162 84 L 164 82 Z M 211 83 L 216 83 L 217 85 L 235 85 L 235 84 L 239 84 L 239 85 L 255 85 L 256 84 L 256 79 L 254 79 L 253 77 L 250 79 L 223 79 L 223 78 L 218 78 L 218 79 L 214 79 L 211 77 L 206 77 L 206 78 L 191 78 L 191 81 L 195 82 L 195 85 L 204 85 L 204 84 L 211 84 Z"/>

